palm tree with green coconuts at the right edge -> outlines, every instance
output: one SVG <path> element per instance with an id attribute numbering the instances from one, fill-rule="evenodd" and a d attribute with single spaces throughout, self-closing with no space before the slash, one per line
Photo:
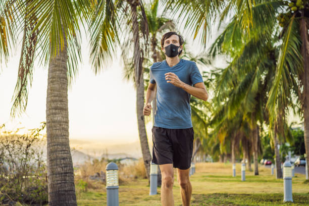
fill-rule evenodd
<path id="1" fill-rule="evenodd" d="M 289 7 L 284 7 L 285 3 L 288 2 L 282 1 L 282 12 L 278 11 L 282 42 L 267 105 L 272 122 L 282 109 L 286 110 L 292 96 L 297 98 L 303 117 L 305 150 L 309 153 L 309 1 L 290 1 Z M 307 167 L 308 163 L 309 159 Z"/>

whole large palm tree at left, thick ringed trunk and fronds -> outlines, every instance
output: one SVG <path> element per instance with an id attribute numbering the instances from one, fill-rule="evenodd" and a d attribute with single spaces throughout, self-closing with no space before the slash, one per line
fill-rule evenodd
<path id="1" fill-rule="evenodd" d="M 81 14 L 91 16 L 87 1 L 8 1 L 24 24 L 19 76 L 12 116 L 25 111 L 28 84 L 36 56 L 48 64 L 46 98 L 47 178 L 49 205 L 77 205 L 74 171 L 69 145 L 68 86 L 80 61 Z M 18 5 L 18 7 L 17 7 Z M 85 12 L 87 11 L 87 12 Z M 30 44 L 29 44 L 30 43 Z M 38 45 L 38 46 L 36 46 Z M 37 53 L 37 55 L 35 55 Z"/>

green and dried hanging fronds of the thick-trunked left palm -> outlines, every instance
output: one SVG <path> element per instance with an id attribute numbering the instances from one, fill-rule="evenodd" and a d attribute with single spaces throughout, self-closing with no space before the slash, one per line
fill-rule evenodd
<path id="1" fill-rule="evenodd" d="M 79 20 L 91 18 L 93 15 L 90 10 L 93 8 L 92 0 L 24 0 L 15 3 L 18 3 L 18 10 L 15 10 L 14 15 L 23 22 L 19 25 L 23 26 L 24 40 L 11 109 L 13 117 L 26 109 L 28 84 L 31 86 L 32 82 L 33 61 L 39 58 L 39 63 L 46 66 L 50 58 L 63 49 L 64 41 L 68 42 L 67 64 L 71 85 L 81 61 Z M 88 16 L 82 17 L 86 10 Z"/>

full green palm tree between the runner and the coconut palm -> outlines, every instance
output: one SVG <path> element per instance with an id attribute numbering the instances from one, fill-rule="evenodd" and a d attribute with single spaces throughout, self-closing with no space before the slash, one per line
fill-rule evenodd
<path id="1" fill-rule="evenodd" d="M 261 17 L 256 16 L 270 20 L 274 18 L 268 11 L 261 11 L 260 7 L 262 6 L 252 7 L 252 21 L 257 26 L 251 28 L 250 36 L 243 31 L 237 17 L 234 16 L 210 48 L 213 57 L 226 55 L 231 59 L 229 66 L 217 76 L 214 100 L 217 105 L 226 105 L 226 109 L 221 112 L 223 114 L 221 122 L 226 118 L 234 121 L 236 114 L 239 113 L 242 114 L 242 119 L 248 122 L 250 138 L 243 138 L 242 142 L 252 143 L 255 175 L 259 174 L 258 122 L 262 125 L 264 117 L 267 116 L 262 109 L 265 108 L 263 99 L 266 99 L 269 91 L 270 83 L 267 80 L 274 74 L 275 66 L 272 58 L 274 41 L 268 33 L 268 28 L 274 25 L 274 21 L 270 21 L 268 27 L 262 28 L 259 24 Z M 246 145 L 242 146 L 245 159 L 249 152 Z"/>

